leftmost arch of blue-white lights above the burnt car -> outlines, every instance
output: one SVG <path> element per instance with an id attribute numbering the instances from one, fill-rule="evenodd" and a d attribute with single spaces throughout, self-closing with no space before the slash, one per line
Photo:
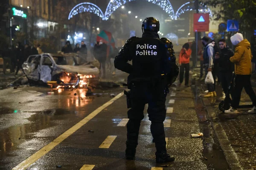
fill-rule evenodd
<path id="1" fill-rule="evenodd" d="M 70 20 L 71 18 L 73 18 L 73 16 L 75 16 L 77 14 L 80 14 L 82 12 L 90 12 L 90 13 L 98 15 L 102 19 L 105 18 L 102 10 L 98 6 L 96 6 L 95 4 L 93 4 L 93 3 L 79 3 L 78 5 L 76 5 L 70 11 L 68 19 Z"/>

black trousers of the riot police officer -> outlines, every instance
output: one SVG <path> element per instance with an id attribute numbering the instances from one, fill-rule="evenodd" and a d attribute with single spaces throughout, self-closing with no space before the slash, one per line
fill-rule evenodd
<path id="1" fill-rule="evenodd" d="M 148 103 L 148 117 L 151 121 L 150 130 L 157 153 L 166 152 L 163 121 L 166 118 L 166 94 L 161 83 L 133 83 L 131 86 L 131 109 L 128 111 L 127 141 L 128 149 L 138 145 L 140 122 L 144 118 L 145 104 Z"/>

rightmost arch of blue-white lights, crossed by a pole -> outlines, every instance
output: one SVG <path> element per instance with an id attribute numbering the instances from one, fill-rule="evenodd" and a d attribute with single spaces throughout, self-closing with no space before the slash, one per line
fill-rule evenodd
<path id="1" fill-rule="evenodd" d="M 186 11 L 193 11 L 193 10 L 195 10 L 195 1 L 184 3 L 177 10 L 175 14 L 175 20 L 177 20 L 177 18 L 180 17 L 180 14 L 183 14 Z M 212 17 L 212 11 L 206 5 L 204 5 L 204 3 L 200 3 L 199 11 L 201 13 L 209 13 L 209 15 Z"/>

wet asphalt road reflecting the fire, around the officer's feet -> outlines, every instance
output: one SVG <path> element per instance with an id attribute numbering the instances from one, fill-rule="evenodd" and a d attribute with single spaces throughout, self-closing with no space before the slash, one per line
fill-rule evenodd
<path id="1" fill-rule="evenodd" d="M 93 90 L 93 96 L 86 96 L 84 89 L 59 90 L 52 95 L 47 95 L 50 89 L 43 87 L 0 91 L 0 170 L 12 170 L 21 162 L 29 165 L 28 170 L 229 169 L 217 139 L 206 144 L 204 138 L 189 138 L 199 132 L 214 137 L 193 88 L 172 88 L 166 99 L 166 108 L 172 112 L 167 113 L 165 122 L 167 150 L 175 155 L 175 162 L 168 166 L 155 163 L 147 106 L 136 160 L 126 161 L 126 124 L 119 126 L 128 111 L 125 96 L 121 95 L 124 89 Z M 81 120 L 86 120 L 85 124 Z M 75 125 L 81 127 L 70 130 Z M 71 132 L 68 136 L 58 138 L 67 130 Z M 108 143 L 108 136 L 114 139 L 109 148 L 99 148 Z M 28 159 L 30 156 L 37 158 Z"/>

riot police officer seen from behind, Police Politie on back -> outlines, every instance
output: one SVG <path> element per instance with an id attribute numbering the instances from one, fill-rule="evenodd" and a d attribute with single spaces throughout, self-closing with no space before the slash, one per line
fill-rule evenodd
<path id="1" fill-rule="evenodd" d="M 151 133 L 159 163 L 174 161 L 166 151 L 163 121 L 166 118 L 167 86 L 177 78 L 178 68 L 172 49 L 172 42 L 166 38 L 160 40 L 157 32 L 160 23 L 154 17 L 145 18 L 142 24 L 143 35 L 131 37 L 116 56 L 115 68 L 128 74 L 128 111 L 126 159 L 135 159 L 140 122 L 144 118 L 143 110 L 148 103 L 148 117 L 151 121 Z M 128 63 L 132 60 L 132 65 Z"/>

